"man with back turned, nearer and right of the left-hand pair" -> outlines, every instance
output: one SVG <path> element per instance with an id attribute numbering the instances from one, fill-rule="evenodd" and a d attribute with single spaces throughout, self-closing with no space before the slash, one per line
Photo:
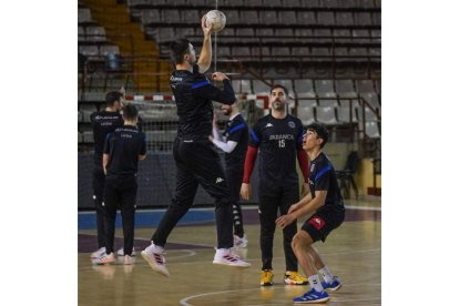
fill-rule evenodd
<path id="1" fill-rule="evenodd" d="M 129 104 L 123 109 L 124 125 L 109 133 L 103 149 L 103 169 L 105 172 L 105 245 L 106 252 L 95 264 L 113 263 L 113 242 L 116 208 L 121 210 L 124 233 L 124 264 L 131 265 L 134 244 L 135 197 L 137 194 L 137 163 L 146 156 L 145 134 L 139 131 L 139 111 Z"/>

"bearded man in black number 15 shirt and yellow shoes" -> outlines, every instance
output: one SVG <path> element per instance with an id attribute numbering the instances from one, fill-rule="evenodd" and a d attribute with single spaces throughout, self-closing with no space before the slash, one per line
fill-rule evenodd
<path id="1" fill-rule="evenodd" d="M 241 195 L 251 196 L 251 175 L 259 151 L 259 223 L 262 248 L 262 286 L 273 285 L 273 239 L 276 230 L 277 211 L 280 215 L 288 212 L 292 203 L 299 200 L 296 159 L 298 159 L 305 180 L 308 177 L 308 162 L 302 150 L 303 124 L 297 118 L 287 114 L 288 91 L 282 85 L 271 90 L 271 114 L 259 119 L 251 130 L 251 140 L 245 157 L 244 178 Z M 305 184 L 305 190 L 307 185 Z M 296 222 L 283 228 L 287 285 L 306 285 L 307 279 L 298 274 L 298 262 L 292 249 L 296 234 Z"/>

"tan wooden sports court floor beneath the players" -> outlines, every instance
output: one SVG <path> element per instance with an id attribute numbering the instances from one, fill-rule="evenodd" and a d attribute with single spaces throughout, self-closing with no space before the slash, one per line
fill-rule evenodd
<path id="1" fill-rule="evenodd" d="M 326 243 L 316 243 L 332 273 L 343 287 L 330 293 L 328 305 L 381 305 L 381 205 L 380 197 L 347 201 L 343 225 Z M 164 277 L 153 272 L 143 258 L 135 264 L 92 265 L 90 252 L 96 249 L 94 230 L 79 231 L 79 305 L 293 305 L 293 297 L 309 286 L 284 285 L 282 231 L 276 230 L 273 272 L 275 284 L 259 286 L 261 251 L 256 207 L 244 208 L 248 247 L 237 249 L 252 267 L 241 269 L 213 265 L 215 225 L 191 222 L 174 228 L 166 245 Z M 298 228 L 303 220 L 298 221 Z M 154 227 L 135 231 L 134 246 L 142 251 L 150 244 Z M 122 231 L 116 231 L 115 249 L 122 247 Z M 302 271 L 300 271 L 302 272 Z M 302 272 L 303 274 L 303 272 Z"/>

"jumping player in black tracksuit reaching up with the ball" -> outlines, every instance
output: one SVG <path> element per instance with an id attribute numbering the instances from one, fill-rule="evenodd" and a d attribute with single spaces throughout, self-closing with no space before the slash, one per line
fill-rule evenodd
<path id="1" fill-rule="evenodd" d="M 191 208 L 198 184 L 215 200 L 215 222 L 217 227 L 217 251 L 214 264 L 248 267 L 231 253 L 233 246 L 233 215 L 226 177 L 220 156 L 208 141 L 212 134 L 212 101 L 233 104 L 236 101 L 228 78 L 214 72 L 214 81 L 223 82 L 223 90 L 211 84 L 203 74 L 211 67 L 211 26 L 201 20 L 204 42 L 200 60 L 193 44 L 186 39 L 171 44 L 175 71 L 171 75 L 178 114 L 177 137 L 173 154 L 176 165 L 175 196 L 152 236 L 152 244 L 142 251 L 142 257 L 157 273 L 169 276 L 163 256 L 167 236 L 182 216 Z"/>

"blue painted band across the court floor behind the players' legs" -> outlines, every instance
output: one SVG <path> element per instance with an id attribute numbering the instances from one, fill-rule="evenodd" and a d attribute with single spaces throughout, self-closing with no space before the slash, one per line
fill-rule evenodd
<path id="1" fill-rule="evenodd" d="M 156 227 L 160 223 L 165 210 L 155 211 L 137 211 L 135 212 L 135 227 Z M 215 222 L 215 213 L 213 211 L 191 210 L 188 211 L 178 225 L 201 224 Z M 95 212 L 78 213 L 78 230 L 95 230 Z M 116 228 L 122 228 L 121 214 L 116 213 Z"/>

